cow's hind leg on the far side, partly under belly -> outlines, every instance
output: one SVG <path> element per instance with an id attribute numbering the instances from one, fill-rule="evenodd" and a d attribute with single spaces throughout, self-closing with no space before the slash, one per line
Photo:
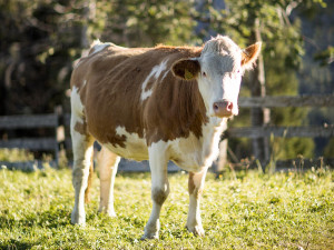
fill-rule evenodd
<path id="1" fill-rule="evenodd" d="M 120 157 L 102 147 L 98 156 L 100 176 L 100 212 L 116 217 L 114 210 L 114 183 Z"/>

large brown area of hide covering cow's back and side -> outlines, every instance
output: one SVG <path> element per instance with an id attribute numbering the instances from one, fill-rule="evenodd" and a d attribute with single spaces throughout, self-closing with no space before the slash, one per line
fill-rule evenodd
<path id="1" fill-rule="evenodd" d="M 101 143 L 125 147 L 126 137 L 116 133 L 118 127 L 146 138 L 148 146 L 159 140 L 202 137 L 202 126 L 208 121 L 197 81 L 176 78 L 171 66 L 200 56 L 202 48 L 108 47 L 80 60 L 73 70 L 71 87 L 79 89 L 85 107 L 87 132 Z M 141 101 L 141 86 L 155 66 L 167 60 L 168 73 L 158 84 L 148 82 L 153 94 Z M 163 73 L 165 73 L 164 71 Z M 84 86 L 84 82 L 86 84 Z M 80 128 L 78 128 L 80 129 Z"/>

